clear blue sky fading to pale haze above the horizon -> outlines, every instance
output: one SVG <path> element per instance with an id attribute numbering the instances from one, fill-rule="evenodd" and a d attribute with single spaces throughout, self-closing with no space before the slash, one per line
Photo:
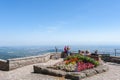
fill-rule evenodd
<path id="1" fill-rule="evenodd" d="M 0 46 L 120 45 L 120 0 L 0 0 Z"/>

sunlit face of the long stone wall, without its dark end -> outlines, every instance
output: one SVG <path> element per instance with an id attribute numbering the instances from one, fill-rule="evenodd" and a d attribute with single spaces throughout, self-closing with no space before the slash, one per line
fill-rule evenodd
<path id="1" fill-rule="evenodd" d="M 31 56 L 31 57 L 24 57 L 24 58 L 15 58 L 15 59 L 8 59 L 9 63 L 9 70 L 16 69 L 19 67 L 23 67 L 30 64 L 47 62 L 50 59 L 51 54 L 44 54 L 39 56 Z"/>

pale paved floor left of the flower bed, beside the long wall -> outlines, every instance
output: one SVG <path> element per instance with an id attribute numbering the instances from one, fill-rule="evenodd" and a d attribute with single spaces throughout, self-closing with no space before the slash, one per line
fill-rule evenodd
<path id="1" fill-rule="evenodd" d="M 48 65 L 53 65 L 57 62 L 61 62 L 62 59 L 59 60 L 50 60 L 47 62 Z M 38 63 L 41 65 L 46 65 L 45 63 Z M 38 65 L 33 64 L 33 65 Z M 0 71 L 0 80 L 60 80 L 62 78 L 35 74 L 33 73 L 33 65 L 25 66 L 22 68 L 18 68 L 11 71 Z"/>

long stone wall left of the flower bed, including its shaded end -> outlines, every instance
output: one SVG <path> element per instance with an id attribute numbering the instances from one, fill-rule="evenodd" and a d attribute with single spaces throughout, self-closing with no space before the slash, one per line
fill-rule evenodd
<path id="1" fill-rule="evenodd" d="M 13 70 L 30 64 L 47 62 L 53 53 L 47 53 L 39 56 L 14 58 L 8 60 L 0 60 L 0 70 Z"/>

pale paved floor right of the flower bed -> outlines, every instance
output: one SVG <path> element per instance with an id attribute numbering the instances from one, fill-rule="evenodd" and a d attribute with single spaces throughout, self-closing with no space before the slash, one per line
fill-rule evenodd
<path id="1" fill-rule="evenodd" d="M 120 80 L 120 64 L 106 63 L 109 70 L 105 73 L 97 74 L 82 80 Z"/>

